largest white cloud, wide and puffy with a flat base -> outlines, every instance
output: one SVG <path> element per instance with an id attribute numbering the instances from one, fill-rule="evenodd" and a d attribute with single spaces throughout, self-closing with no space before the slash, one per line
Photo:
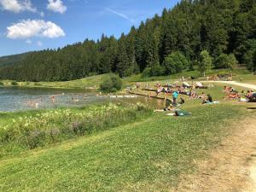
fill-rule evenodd
<path id="1" fill-rule="evenodd" d="M 59 38 L 65 36 L 60 26 L 51 21 L 44 20 L 20 20 L 7 27 L 7 38 Z"/>

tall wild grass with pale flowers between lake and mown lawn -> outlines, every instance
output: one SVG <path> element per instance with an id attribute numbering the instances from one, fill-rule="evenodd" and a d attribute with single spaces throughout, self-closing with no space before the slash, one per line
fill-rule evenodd
<path id="1" fill-rule="evenodd" d="M 0 157 L 15 150 L 43 147 L 69 138 L 90 135 L 95 131 L 108 130 L 147 117 L 151 112 L 141 103 L 130 107 L 110 103 L 82 111 L 56 109 L 32 116 L 20 116 L 0 130 Z"/>

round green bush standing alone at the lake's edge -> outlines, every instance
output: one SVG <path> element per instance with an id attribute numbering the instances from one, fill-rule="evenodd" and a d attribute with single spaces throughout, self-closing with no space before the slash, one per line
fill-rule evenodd
<path id="1" fill-rule="evenodd" d="M 100 90 L 103 92 L 116 92 L 122 89 L 122 80 L 117 75 L 111 75 L 105 79 L 100 85 Z"/>

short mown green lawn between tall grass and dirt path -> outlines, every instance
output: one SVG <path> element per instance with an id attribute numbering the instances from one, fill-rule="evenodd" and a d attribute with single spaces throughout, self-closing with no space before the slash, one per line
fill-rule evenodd
<path id="1" fill-rule="evenodd" d="M 167 191 L 196 170 L 247 113 L 241 106 L 189 106 L 183 118 L 155 113 L 111 131 L 0 160 L 1 191 Z"/>

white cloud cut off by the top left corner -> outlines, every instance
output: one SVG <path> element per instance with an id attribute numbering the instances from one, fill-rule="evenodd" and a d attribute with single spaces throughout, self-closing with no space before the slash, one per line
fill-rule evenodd
<path id="1" fill-rule="evenodd" d="M 20 13 L 22 11 L 31 11 L 33 13 L 37 12 L 37 9 L 32 6 L 30 0 L 0 0 L 0 5 L 4 10 L 12 11 L 15 13 Z"/>

